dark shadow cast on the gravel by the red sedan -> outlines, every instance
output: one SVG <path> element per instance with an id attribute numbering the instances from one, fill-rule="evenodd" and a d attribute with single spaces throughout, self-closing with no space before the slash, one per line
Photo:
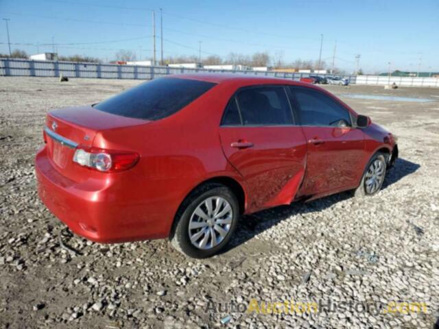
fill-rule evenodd
<path id="1" fill-rule="evenodd" d="M 418 168 L 420 168 L 419 164 L 401 158 L 396 159 L 394 167 L 390 169 L 385 176 L 383 189 L 388 188 L 405 176 L 414 173 Z M 254 238 L 254 236 L 268 230 L 284 219 L 309 212 L 319 212 L 331 207 L 337 202 L 350 199 L 351 197 L 353 197 L 353 194 L 350 191 L 346 191 L 316 199 L 312 202 L 294 202 L 289 206 L 278 206 L 276 208 L 255 212 L 252 215 L 245 215 L 241 221 L 239 221 L 233 240 L 230 241 L 228 247 L 226 247 L 221 254 L 246 243 Z"/>

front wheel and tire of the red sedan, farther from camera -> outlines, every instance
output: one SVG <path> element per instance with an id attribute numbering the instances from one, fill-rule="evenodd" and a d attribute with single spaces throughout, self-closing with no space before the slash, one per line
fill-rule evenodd
<path id="1" fill-rule="evenodd" d="M 387 161 L 381 152 L 370 158 L 359 186 L 354 191 L 355 197 L 366 197 L 377 194 L 385 179 Z"/>

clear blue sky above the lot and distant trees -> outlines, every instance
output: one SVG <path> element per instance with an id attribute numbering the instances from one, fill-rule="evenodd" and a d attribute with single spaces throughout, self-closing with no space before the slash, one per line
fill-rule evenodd
<path id="1" fill-rule="evenodd" d="M 12 50 L 80 54 L 114 60 L 119 49 L 152 58 L 152 10 L 156 56 L 268 51 L 283 62 L 322 60 L 365 73 L 439 71 L 438 0 L 0 0 L 0 18 L 10 19 Z M 0 53 L 8 53 L 0 21 Z M 390 64 L 389 64 L 390 63 Z"/>

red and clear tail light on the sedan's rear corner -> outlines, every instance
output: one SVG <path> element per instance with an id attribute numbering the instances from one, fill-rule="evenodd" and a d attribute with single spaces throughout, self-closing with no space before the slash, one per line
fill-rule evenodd
<path id="1" fill-rule="evenodd" d="M 95 147 L 78 146 L 73 155 L 73 162 L 80 166 L 106 173 L 130 169 L 137 164 L 137 161 L 139 161 L 137 153 Z"/>

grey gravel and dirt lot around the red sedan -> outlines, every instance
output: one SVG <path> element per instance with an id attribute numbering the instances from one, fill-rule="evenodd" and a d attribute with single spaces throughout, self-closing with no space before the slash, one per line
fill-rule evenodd
<path id="1" fill-rule="evenodd" d="M 0 77 L 0 327 L 434 326 L 439 317 L 438 89 L 326 87 L 399 136 L 401 158 L 375 197 L 342 193 L 259 212 L 241 222 L 228 252 L 207 260 L 185 258 L 167 241 L 99 245 L 63 231 L 62 241 L 80 254 L 69 252 L 58 240 L 64 226 L 36 195 L 33 158 L 43 143 L 45 113 L 95 103 L 135 84 L 139 81 L 60 84 L 49 77 Z M 246 313 L 252 299 L 268 307 L 294 300 L 344 303 L 344 308 Z M 427 310 L 407 312 L 403 302 L 426 303 Z M 386 313 L 388 303 L 399 303 L 390 310 L 400 311 Z"/>

